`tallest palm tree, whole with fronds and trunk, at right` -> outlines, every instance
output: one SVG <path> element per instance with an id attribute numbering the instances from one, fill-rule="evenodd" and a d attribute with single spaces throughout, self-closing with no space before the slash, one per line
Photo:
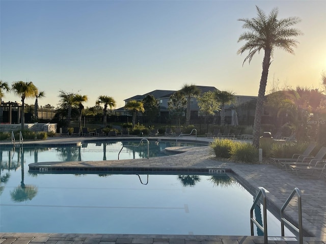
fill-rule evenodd
<path id="1" fill-rule="evenodd" d="M 264 50 L 253 130 L 253 145 L 258 148 L 268 69 L 271 63 L 270 58 L 276 48 L 293 54 L 293 48 L 297 46 L 298 41 L 292 39 L 292 37 L 302 35 L 302 33 L 298 29 L 291 27 L 300 22 L 300 18 L 289 17 L 278 20 L 279 11 L 277 8 L 274 8 L 268 16 L 259 7 L 256 6 L 256 9 L 257 18 L 238 19 L 244 22 L 242 28 L 246 28 L 248 31 L 240 35 L 238 42 L 246 41 L 246 43 L 240 47 L 237 53 L 242 54 L 249 51 L 248 56 L 243 60 L 243 65 L 247 60 L 250 64 L 253 56 L 257 52 Z"/>

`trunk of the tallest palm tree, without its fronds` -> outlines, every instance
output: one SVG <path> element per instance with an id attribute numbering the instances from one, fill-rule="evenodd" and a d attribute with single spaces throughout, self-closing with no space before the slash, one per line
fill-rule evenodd
<path id="1" fill-rule="evenodd" d="M 268 69 L 270 66 L 270 49 L 265 49 L 264 59 L 263 59 L 263 71 L 261 73 L 259 91 L 257 97 L 255 120 L 253 128 L 253 145 L 259 148 L 259 137 L 261 128 L 261 116 L 263 114 L 264 96 L 267 84 Z"/>

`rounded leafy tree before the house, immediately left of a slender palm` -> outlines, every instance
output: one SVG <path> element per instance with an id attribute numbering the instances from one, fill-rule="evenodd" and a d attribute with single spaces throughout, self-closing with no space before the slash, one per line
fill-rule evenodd
<path id="1" fill-rule="evenodd" d="M 178 90 L 170 96 L 170 100 L 168 101 L 170 117 L 180 119 L 184 114 L 186 106 L 187 100 L 185 99 L 183 93 Z"/>

